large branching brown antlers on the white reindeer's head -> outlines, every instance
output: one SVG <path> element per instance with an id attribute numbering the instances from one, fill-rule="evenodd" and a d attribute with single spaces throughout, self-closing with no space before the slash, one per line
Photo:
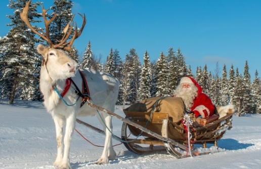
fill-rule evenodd
<path id="1" fill-rule="evenodd" d="M 39 35 L 41 38 L 45 39 L 48 44 L 50 45 L 50 48 L 63 48 L 64 50 L 67 50 L 70 52 L 71 54 L 71 47 L 72 47 L 72 44 L 73 44 L 73 41 L 78 38 L 86 24 L 86 19 L 85 19 L 85 14 L 84 16 L 80 15 L 82 17 L 82 26 L 80 28 L 80 30 L 78 31 L 77 30 L 77 24 L 75 22 L 75 31 L 74 31 L 74 34 L 73 34 L 73 37 L 70 41 L 66 42 L 66 40 L 69 38 L 70 34 L 72 33 L 72 28 L 73 28 L 73 17 L 75 15 L 72 16 L 70 22 L 65 26 L 65 28 L 63 29 L 63 37 L 61 40 L 57 40 L 59 42 L 59 44 L 53 44 L 52 41 L 51 41 L 51 38 L 49 37 L 49 25 L 51 22 L 53 22 L 53 20 L 56 18 L 57 16 L 57 13 L 54 14 L 53 18 L 50 19 L 50 20 L 47 20 L 46 19 L 46 12 L 49 10 L 45 10 L 43 9 L 43 6 L 42 7 L 42 15 L 43 15 L 43 20 L 45 21 L 45 26 L 46 26 L 46 32 L 43 32 L 42 30 L 41 33 L 39 33 L 37 30 L 35 30 L 32 25 L 30 24 L 29 22 L 29 19 L 28 19 L 28 11 L 29 11 L 29 5 L 31 3 L 32 0 L 26 2 L 26 5 L 25 7 L 23 8 L 23 12 L 20 13 L 20 17 L 21 19 L 25 22 L 25 24 L 34 32 L 36 33 L 37 35 Z M 70 26 L 72 22 L 72 25 Z M 68 46 L 67 46 L 68 45 Z M 65 47 L 66 46 L 66 47 Z"/>

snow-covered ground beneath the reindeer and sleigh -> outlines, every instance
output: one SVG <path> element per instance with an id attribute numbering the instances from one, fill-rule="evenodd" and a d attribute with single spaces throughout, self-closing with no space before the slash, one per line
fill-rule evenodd
<path id="1" fill-rule="evenodd" d="M 124 116 L 121 106 L 115 113 Z M 96 116 L 79 118 L 102 129 Z M 95 147 L 74 132 L 70 149 L 72 168 L 259 168 L 261 165 L 261 114 L 233 116 L 233 129 L 218 142 L 223 152 L 177 159 L 167 153 L 138 155 L 123 144 L 115 146 L 117 158 L 97 165 L 103 148 Z M 113 118 L 113 133 L 120 137 L 122 121 Z M 105 136 L 76 123 L 76 129 L 96 145 Z M 113 139 L 113 144 L 119 142 Z M 211 145 L 208 145 L 211 146 Z M 0 104 L 0 168 L 56 168 L 53 119 L 41 102 Z"/>

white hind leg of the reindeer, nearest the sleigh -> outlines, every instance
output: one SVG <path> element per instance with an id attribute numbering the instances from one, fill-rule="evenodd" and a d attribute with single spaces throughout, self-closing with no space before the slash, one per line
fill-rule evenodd
<path id="1" fill-rule="evenodd" d="M 107 125 L 108 129 L 112 132 L 112 117 L 108 114 L 105 114 L 103 112 L 100 112 L 102 118 L 104 119 L 105 124 Z M 98 116 L 99 120 L 101 121 L 100 117 Z M 106 164 L 109 163 L 110 160 L 114 160 L 116 158 L 116 152 L 114 151 L 112 147 L 112 134 L 111 132 L 106 128 L 104 123 L 101 121 L 106 137 L 105 137 L 105 144 L 104 149 L 101 158 L 96 162 L 96 164 Z"/>

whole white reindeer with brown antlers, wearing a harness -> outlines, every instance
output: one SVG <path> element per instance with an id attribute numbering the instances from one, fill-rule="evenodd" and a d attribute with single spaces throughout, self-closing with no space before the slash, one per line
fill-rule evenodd
<path id="1" fill-rule="evenodd" d="M 41 33 L 39 33 L 33 28 L 28 20 L 30 3 L 31 0 L 26 2 L 26 6 L 23 8 L 20 17 L 34 33 L 45 39 L 50 45 L 49 48 L 38 45 L 37 51 L 42 56 L 39 81 L 40 91 L 43 95 L 43 103 L 47 111 L 52 115 L 56 128 L 57 157 L 53 165 L 58 166 L 58 168 L 71 168 L 69 149 L 76 116 L 97 114 L 96 109 L 89 107 L 88 104 L 84 104 L 86 101 L 89 101 L 88 99 L 90 98 L 95 105 L 109 111 L 114 111 L 119 82 L 106 73 L 85 69 L 79 70 L 77 68 L 77 63 L 69 57 L 68 51 L 71 53 L 73 41 L 80 36 L 85 26 L 85 15 L 82 16 L 79 14 L 83 19 L 83 23 L 80 30 L 77 30 L 77 25 L 75 23 L 75 31 L 70 41 L 66 42 L 69 35 L 72 33 L 72 20 L 74 16 L 63 29 L 64 36 L 62 39 L 58 41 L 58 44 L 53 44 L 49 37 L 49 25 L 57 14 L 55 13 L 52 19 L 47 20 L 46 12 L 48 10 L 43 9 L 42 6 L 46 32 L 41 30 Z M 86 79 L 87 83 L 82 82 L 85 81 L 84 79 Z M 79 88 L 82 88 L 82 84 L 85 89 L 87 86 L 89 87 L 89 95 L 86 95 L 86 90 L 85 94 L 81 93 L 79 90 Z M 77 101 L 79 95 L 83 98 L 82 102 Z M 102 156 L 96 163 L 105 164 L 109 163 L 109 160 L 115 159 L 116 153 L 112 147 L 112 134 L 110 133 L 112 131 L 112 117 L 104 112 L 100 112 L 100 114 L 101 115 L 98 116 L 98 118 L 103 125 L 106 138 Z M 104 121 L 105 124 L 102 121 Z M 65 135 L 63 136 L 63 126 L 65 124 Z"/>

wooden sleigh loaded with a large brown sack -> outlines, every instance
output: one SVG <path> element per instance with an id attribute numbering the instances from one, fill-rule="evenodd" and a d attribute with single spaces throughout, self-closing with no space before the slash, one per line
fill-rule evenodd
<path id="1" fill-rule="evenodd" d="M 170 97 L 150 98 L 124 109 L 125 119 L 138 125 L 123 122 L 121 139 L 125 147 L 137 154 L 167 151 L 177 158 L 219 152 L 218 141 L 232 128 L 234 107 L 216 106 L 214 115 L 209 118 L 192 116 L 193 124 L 185 130 L 181 122 L 183 112 L 175 112 L 184 107 L 177 108 L 175 104 L 182 105 L 182 101 Z M 142 128 L 150 132 L 143 132 Z M 203 146 L 203 152 L 195 147 L 198 144 Z M 207 149 L 207 145 L 214 146 L 214 149 Z"/>

